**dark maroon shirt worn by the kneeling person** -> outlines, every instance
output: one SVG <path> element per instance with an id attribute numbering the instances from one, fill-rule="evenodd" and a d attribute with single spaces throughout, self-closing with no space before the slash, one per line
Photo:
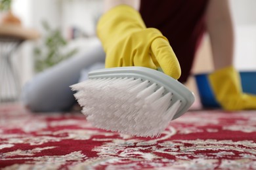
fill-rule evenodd
<path id="1" fill-rule="evenodd" d="M 196 50 L 205 32 L 208 0 L 141 0 L 140 14 L 147 27 L 160 29 L 181 65 L 180 82 L 186 82 Z"/>

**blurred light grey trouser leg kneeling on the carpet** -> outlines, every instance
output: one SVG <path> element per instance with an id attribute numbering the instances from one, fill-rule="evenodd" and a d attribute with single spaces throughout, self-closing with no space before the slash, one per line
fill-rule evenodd
<path id="1" fill-rule="evenodd" d="M 70 109 L 74 103 L 74 92 L 69 87 L 79 81 L 83 69 L 95 63 L 104 63 L 105 54 L 100 44 L 83 54 L 36 75 L 22 92 L 24 105 L 35 112 L 53 112 Z"/>

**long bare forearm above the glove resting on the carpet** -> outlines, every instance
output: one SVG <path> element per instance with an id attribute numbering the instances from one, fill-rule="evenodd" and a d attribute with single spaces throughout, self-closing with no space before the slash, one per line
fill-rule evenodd
<path id="1" fill-rule="evenodd" d="M 206 11 L 215 69 L 233 64 L 234 30 L 227 0 L 211 0 Z"/>

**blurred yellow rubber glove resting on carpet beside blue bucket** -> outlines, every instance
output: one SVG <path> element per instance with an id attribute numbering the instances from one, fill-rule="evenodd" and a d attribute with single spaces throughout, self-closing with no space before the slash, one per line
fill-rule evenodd
<path id="1" fill-rule="evenodd" d="M 242 92 L 240 75 L 234 67 L 219 69 L 208 76 L 215 98 L 225 110 L 256 109 L 256 95 Z"/>

